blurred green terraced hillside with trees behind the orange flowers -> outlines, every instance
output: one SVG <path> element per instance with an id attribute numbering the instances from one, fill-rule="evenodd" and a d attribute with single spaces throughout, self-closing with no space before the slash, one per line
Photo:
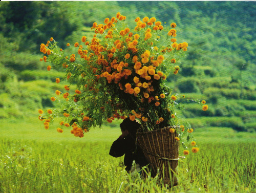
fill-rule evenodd
<path id="1" fill-rule="evenodd" d="M 20 11 L 23 10 L 23 11 Z M 111 10 L 106 12 L 106 10 Z M 93 33 L 93 22 L 117 12 L 135 26 L 139 16 L 177 24 L 177 38 L 188 42 L 177 75 L 167 78 L 173 93 L 206 100 L 194 103 L 180 118 L 194 128 L 231 127 L 256 131 L 255 2 L 2 2 L 0 4 L 0 119 L 37 116 L 52 107 L 50 97 L 65 82 L 65 72 L 46 70 L 40 44 L 54 37 L 59 46 Z M 72 87 L 74 87 L 72 85 Z M 75 89 L 75 87 L 74 87 Z"/>

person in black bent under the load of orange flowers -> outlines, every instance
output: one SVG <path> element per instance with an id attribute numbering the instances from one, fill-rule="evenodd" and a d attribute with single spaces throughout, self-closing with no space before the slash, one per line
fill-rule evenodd
<path id="1" fill-rule="evenodd" d="M 125 118 L 120 124 L 122 135 L 113 142 L 110 148 L 109 154 L 111 156 L 117 158 L 124 155 L 123 161 L 127 172 L 134 169 L 132 169 L 133 161 L 135 161 L 137 169 L 148 165 L 142 149 L 136 143 L 136 132 L 139 127 L 140 123 L 136 120 L 132 121 L 130 118 Z"/>

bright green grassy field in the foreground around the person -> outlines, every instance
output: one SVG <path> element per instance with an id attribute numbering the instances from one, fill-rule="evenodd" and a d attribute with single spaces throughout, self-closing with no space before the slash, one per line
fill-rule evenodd
<path id="1" fill-rule="evenodd" d="M 114 124 L 83 138 L 45 130 L 36 118 L 1 121 L 0 192 L 256 192 L 256 136 L 228 127 L 195 130 L 200 151 L 179 161 L 178 186 L 126 173 L 109 156 L 120 135 Z M 182 154 L 182 149 L 180 149 Z"/>

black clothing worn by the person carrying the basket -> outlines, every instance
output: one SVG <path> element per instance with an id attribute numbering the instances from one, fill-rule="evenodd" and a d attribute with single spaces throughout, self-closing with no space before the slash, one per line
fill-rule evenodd
<path id="1" fill-rule="evenodd" d="M 148 165 L 142 149 L 136 144 L 135 139 L 130 134 L 124 138 L 118 138 L 110 148 L 110 155 L 117 158 L 124 155 L 124 165 L 126 171 L 130 171 L 133 160 L 141 167 Z"/>

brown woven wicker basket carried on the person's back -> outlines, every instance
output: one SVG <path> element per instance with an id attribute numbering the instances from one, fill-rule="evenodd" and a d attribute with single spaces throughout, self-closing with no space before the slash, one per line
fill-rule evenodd
<path id="1" fill-rule="evenodd" d="M 152 175 L 155 176 L 159 170 L 160 178 L 163 179 L 164 184 L 175 186 L 178 182 L 173 171 L 176 172 L 175 169 L 178 166 L 179 141 L 175 140 L 175 137 L 178 136 L 176 130 L 175 133 L 170 133 L 169 128 L 179 128 L 179 126 L 164 127 L 150 132 L 138 132 L 137 141 L 151 165 Z"/>

